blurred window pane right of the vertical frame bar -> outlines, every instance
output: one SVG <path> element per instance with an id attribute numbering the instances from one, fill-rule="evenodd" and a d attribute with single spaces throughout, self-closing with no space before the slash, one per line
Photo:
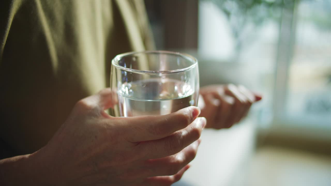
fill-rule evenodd
<path id="1" fill-rule="evenodd" d="M 294 11 L 284 115 L 296 124 L 331 128 L 331 2 L 301 1 Z"/>

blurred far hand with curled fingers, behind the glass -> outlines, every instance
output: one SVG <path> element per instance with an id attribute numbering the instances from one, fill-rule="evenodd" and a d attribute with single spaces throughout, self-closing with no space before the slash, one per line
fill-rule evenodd
<path id="1" fill-rule="evenodd" d="M 207 118 L 207 128 L 230 128 L 245 117 L 254 102 L 262 99 L 242 85 L 210 85 L 200 89 L 201 116 Z M 200 106 L 201 105 L 201 106 Z"/>

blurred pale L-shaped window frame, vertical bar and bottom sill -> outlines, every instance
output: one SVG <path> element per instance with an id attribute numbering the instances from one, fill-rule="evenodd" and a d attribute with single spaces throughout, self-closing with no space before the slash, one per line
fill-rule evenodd
<path id="1" fill-rule="evenodd" d="M 273 117 L 268 130 L 281 135 L 301 135 L 305 138 L 331 140 L 331 121 L 288 116 L 285 113 L 289 91 L 289 67 L 294 56 L 299 3 L 300 0 L 296 0 L 292 7 L 282 9 L 275 63 L 275 82 L 272 99 Z M 327 125 L 330 125 L 330 127 L 325 127 Z"/>

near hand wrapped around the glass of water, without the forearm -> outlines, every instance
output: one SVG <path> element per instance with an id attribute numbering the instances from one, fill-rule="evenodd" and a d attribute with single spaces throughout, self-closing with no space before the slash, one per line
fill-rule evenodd
<path id="1" fill-rule="evenodd" d="M 80 100 L 50 142 L 32 154 L 44 185 L 171 185 L 196 155 L 206 119 L 197 107 L 164 116 L 112 117 L 114 94 Z M 49 182 L 49 183 L 47 183 Z"/>

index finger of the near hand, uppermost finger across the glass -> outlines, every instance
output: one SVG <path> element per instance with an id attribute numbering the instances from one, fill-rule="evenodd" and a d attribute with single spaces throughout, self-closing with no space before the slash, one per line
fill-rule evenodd
<path id="1" fill-rule="evenodd" d="M 129 125 L 128 141 L 140 142 L 167 137 L 187 127 L 199 114 L 200 109 L 191 106 L 163 116 L 136 116 L 122 119 L 126 121 L 125 125 Z"/>

